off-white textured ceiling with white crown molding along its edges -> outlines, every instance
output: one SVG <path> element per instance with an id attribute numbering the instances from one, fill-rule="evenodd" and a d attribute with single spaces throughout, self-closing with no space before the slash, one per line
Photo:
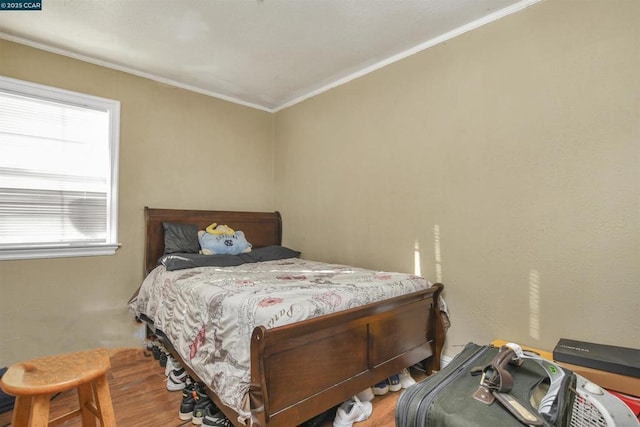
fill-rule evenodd
<path id="1" fill-rule="evenodd" d="M 277 111 L 538 0 L 42 0 L 0 38 Z"/>

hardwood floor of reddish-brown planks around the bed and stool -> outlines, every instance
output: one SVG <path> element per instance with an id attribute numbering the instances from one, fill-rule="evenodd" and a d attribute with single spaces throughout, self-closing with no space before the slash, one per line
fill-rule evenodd
<path id="1" fill-rule="evenodd" d="M 416 378 L 419 379 L 419 378 Z M 164 368 L 158 361 L 140 349 L 113 350 L 109 387 L 119 427 L 175 427 L 192 426 L 190 421 L 178 418 L 181 392 L 166 389 Z M 355 427 L 389 427 L 395 425 L 395 406 L 399 392 L 377 396 L 373 400 L 373 414 Z M 75 390 L 61 393 L 51 402 L 51 416 L 61 415 L 77 407 Z M 320 427 L 331 427 L 333 418 Z M 11 412 L 0 414 L 0 427 L 11 424 Z M 80 426 L 80 419 L 70 420 L 66 427 Z M 294 427 L 294 426 L 292 426 Z"/>

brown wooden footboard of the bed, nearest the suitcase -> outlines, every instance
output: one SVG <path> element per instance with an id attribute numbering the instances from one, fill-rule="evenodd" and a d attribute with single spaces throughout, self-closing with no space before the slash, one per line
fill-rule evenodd
<path id="1" fill-rule="evenodd" d="M 293 426 L 401 369 L 438 370 L 443 285 L 274 329 L 251 338 L 255 426 Z"/>

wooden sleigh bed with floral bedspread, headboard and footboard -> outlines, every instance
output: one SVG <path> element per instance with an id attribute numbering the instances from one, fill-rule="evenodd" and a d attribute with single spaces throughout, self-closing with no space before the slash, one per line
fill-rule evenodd
<path id="1" fill-rule="evenodd" d="M 145 279 L 130 301 L 130 309 L 162 338 L 187 372 L 207 386 L 207 394 L 234 425 L 299 425 L 405 367 L 422 363 L 427 372 L 439 370 L 446 323 L 442 284 L 431 285 L 412 275 L 317 263 L 303 256 L 263 261 L 260 254 L 271 256 L 274 249 L 278 254 L 290 251 L 281 246 L 278 212 L 145 207 L 144 217 Z M 182 254 L 164 255 L 165 224 L 205 229 L 214 222 L 242 230 L 253 246 L 246 255 L 258 261 L 193 268 L 171 267 L 166 262 L 168 258 L 180 260 Z M 163 264 L 158 265 L 161 257 Z M 277 283 L 262 286 L 271 279 L 254 279 L 251 275 L 256 272 L 271 274 Z M 393 286 L 384 287 L 384 291 L 380 286 L 372 287 L 384 281 Z M 333 288 L 320 290 L 323 283 Z M 351 290 L 352 295 L 336 292 L 336 286 L 341 291 Z M 236 294 L 243 287 L 251 293 Z M 278 307 L 278 303 L 290 302 L 288 295 L 279 297 L 278 292 L 285 289 L 313 292 L 311 308 L 298 302 Z M 386 292 L 390 294 L 378 296 L 381 300 L 370 301 L 371 294 Z M 239 300 L 240 308 L 220 314 L 223 299 Z M 354 304 L 358 299 L 360 303 Z M 320 306 L 335 311 L 318 315 Z M 235 322 L 237 312 L 254 309 L 252 321 Z M 298 318 L 291 312 L 304 312 L 305 316 Z M 216 329 L 215 322 L 222 318 L 224 323 L 239 325 L 234 335 Z M 214 325 L 207 326 L 210 323 Z M 191 335 L 178 329 L 187 329 Z M 246 363 L 242 355 L 234 354 L 245 347 Z M 228 366 L 222 359 L 230 362 Z M 240 371 L 242 367 L 246 372 Z M 238 375 L 242 375 L 241 381 Z M 243 394 L 230 399 L 225 392 L 236 385 Z"/>

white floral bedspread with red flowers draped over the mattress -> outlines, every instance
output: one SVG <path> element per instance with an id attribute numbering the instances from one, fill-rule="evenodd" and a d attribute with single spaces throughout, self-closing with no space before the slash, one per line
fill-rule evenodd
<path id="1" fill-rule="evenodd" d="M 299 258 L 167 271 L 156 267 L 129 308 L 153 320 L 200 378 L 249 419 L 250 337 L 430 287 L 404 273 Z M 446 310 L 441 302 L 441 308 Z"/>

